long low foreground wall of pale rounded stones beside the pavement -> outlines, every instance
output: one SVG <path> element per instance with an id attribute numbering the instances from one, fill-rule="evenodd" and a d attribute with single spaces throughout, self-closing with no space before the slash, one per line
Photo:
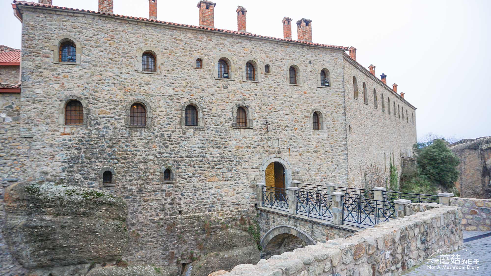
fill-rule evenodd
<path id="1" fill-rule="evenodd" d="M 438 205 L 402 219 L 382 222 L 347 239 L 328 240 L 292 252 L 242 264 L 222 276 L 400 275 L 436 250 L 463 245 L 462 214 L 456 206 Z"/>

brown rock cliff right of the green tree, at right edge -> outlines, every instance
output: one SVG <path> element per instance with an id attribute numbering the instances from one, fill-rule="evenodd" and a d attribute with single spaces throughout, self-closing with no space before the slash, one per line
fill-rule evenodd
<path id="1" fill-rule="evenodd" d="M 463 139 L 451 144 L 450 149 L 461 160 L 459 180 L 455 187 L 461 197 L 491 197 L 491 136 Z"/>

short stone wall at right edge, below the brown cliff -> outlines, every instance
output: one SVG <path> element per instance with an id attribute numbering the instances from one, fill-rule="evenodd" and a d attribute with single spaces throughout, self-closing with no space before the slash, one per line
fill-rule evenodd
<path id="1" fill-rule="evenodd" d="M 461 207 L 465 230 L 491 231 L 491 199 L 453 197 L 450 205 Z"/>

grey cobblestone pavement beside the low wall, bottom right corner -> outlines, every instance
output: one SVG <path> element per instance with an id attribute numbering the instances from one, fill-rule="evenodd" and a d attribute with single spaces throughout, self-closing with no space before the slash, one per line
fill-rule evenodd
<path id="1" fill-rule="evenodd" d="M 464 231 L 464 239 L 482 235 L 488 232 L 468 232 Z M 452 253 L 443 254 L 439 256 L 433 256 L 437 260 L 445 260 L 444 255 L 447 255 L 451 258 L 453 255 L 454 260 L 458 260 L 457 258 L 462 259 L 478 259 L 477 265 L 472 264 L 472 266 L 478 266 L 479 268 L 472 269 L 468 268 L 467 265 L 463 264 L 444 264 L 443 266 L 458 266 L 464 268 L 443 268 L 442 265 L 432 265 L 432 267 L 428 266 L 428 259 L 425 260 L 425 263 L 419 265 L 411 269 L 404 276 L 489 276 L 491 275 L 491 237 L 470 241 L 464 243 L 464 247 L 462 250 L 458 250 Z M 457 257 L 457 255 L 460 255 Z M 450 260 L 452 262 L 452 260 Z M 458 261 L 457 261 L 458 262 Z"/>

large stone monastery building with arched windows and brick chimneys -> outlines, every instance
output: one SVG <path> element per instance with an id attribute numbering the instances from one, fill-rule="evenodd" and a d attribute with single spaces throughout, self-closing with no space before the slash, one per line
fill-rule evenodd
<path id="1" fill-rule="evenodd" d="M 215 28 L 213 2 L 198 2 L 199 26 L 159 21 L 149 3 L 147 19 L 113 14 L 112 0 L 97 12 L 14 1 L 22 90 L 0 98 L 21 117 L 1 117 L 3 186 L 121 195 L 144 239 L 126 258 L 167 264 L 176 243 L 196 245 L 163 241 L 161 223 L 192 232 L 197 218 L 251 213 L 256 183 L 364 188 L 377 171 L 385 185 L 390 164 L 400 173 L 411 157 L 415 107 L 354 47 L 314 43 L 311 20 L 296 21 L 293 40 L 284 17 L 273 38 L 247 32 L 241 6 L 232 31 Z"/>

